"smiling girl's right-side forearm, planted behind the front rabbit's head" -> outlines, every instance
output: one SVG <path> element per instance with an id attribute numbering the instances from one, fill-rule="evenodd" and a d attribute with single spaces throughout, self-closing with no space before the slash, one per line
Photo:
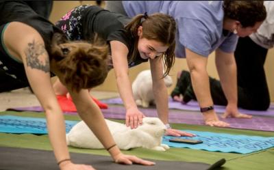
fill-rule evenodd
<path id="1" fill-rule="evenodd" d="M 155 98 L 155 104 L 158 112 L 158 117 L 164 124 L 169 123 L 169 99 L 166 86 L 153 85 L 153 95 Z"/>

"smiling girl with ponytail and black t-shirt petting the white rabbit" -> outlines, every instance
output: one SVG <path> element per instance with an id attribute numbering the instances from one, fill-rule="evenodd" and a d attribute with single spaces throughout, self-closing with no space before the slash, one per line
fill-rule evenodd
<path id="1" fill-rule="evenodd" d="M 126 125 L 132 128 L 142 124 L 144 115 L 134 101 L 128 69 L 149 61 L 158 115 L 164 124 L 169 123 L 168 94 L 162 78 L 169 74 L 175 60 L 176 26 L 171 16 L 145 13 L 130 19 L 97 6 L 81 5 L 64 15 L 56 26 L 71 40 L 90 40 L 97 33 L 110 44 L 108 67 L 114 68 L 119 93 L 127 109 Z M 56 81 L 54 87 L 57 95 L 67 92 L 60 81 Z M 185 133 L 169 129 L 166 134 Z"/>

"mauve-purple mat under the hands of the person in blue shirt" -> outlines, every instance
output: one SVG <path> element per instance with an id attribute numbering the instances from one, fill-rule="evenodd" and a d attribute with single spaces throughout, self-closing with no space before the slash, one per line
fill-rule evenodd
<path id="1" fill-rule="evenodd" d="M 12 111 L 43 111 L 41 107 L 21 107 L 8 109 Z M 121 106 L 109 106 L 102 109 L 105 118 L 125 119 L 125 108 Z M 140 109 L 147 117 L 158 117 L 156 109 Z M 64 112 L 66 114 L 77 114 L 76 112 Z M 274 131 L 274 117 L 253 116 L 252 119 L 227 118 L 221 120 L 230 124 L 229 128 L 240 128 L 249 130 Z M 179 124 L 205 125 L 201 113 L 193 111 L 169 111 L 169 122 Z"/>

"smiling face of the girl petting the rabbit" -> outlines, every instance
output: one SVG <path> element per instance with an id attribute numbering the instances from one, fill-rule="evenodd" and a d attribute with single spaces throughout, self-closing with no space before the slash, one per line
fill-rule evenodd
<path id="1" fill-rule="evenodd" d="M 169 46 L 155 40 L 148 40 L 142 37 L 142 26 L 138 28 L 138 51 L 142 59 L 155 59 L 160 57 Z"/>

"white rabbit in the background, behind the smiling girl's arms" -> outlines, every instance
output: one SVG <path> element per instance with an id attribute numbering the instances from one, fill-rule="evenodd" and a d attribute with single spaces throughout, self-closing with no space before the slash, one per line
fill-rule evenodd
<path id="1" fill-rule="evenodd" d="M 165 76 L 164 83 L 166 87 L 171 87 L 173 84 L 171 76 Z M 136 76 L 136 79 L 132 83 L 132 91 L 134 100 L 138 106 L 149 107 L 149 104 L 155 104 L 151 70 L 143 70 Z"/>

